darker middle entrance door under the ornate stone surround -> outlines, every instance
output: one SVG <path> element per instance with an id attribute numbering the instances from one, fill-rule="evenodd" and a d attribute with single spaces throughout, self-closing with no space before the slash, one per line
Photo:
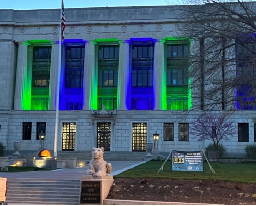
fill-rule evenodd
<path id="1" fill-rule="evenodd" d="M 97 126 L 97 147 L 110 151 L 111 123 L 98 123 Z"/>

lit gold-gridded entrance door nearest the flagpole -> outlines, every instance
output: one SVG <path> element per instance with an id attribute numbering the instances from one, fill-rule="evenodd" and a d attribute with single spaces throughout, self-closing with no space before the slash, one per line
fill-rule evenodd
<path id="1" fill-rule="evenodd" d="M 62 151 L 74 151 L 76 143 L 76 123 L 62 125 Z"/>

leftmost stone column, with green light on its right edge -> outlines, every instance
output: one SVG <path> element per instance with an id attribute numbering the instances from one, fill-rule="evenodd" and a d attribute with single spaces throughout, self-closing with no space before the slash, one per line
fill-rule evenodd
<path id="1" fill-rule="evenodd" d="M 18 58 L 16 66 L 16 84 L 14 96 L 14 110 L 23 110 L 23 101 L 26 98 L 26 75 L 27 75 L 27 42 L 19 42 Z"/>

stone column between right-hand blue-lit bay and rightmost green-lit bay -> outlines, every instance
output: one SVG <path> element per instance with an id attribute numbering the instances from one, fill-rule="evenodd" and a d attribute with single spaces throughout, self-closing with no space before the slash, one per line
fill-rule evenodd
<path id="1" fill-rule="evenodd" d="M 153 89 L 155 98 L 154 110 L 162 110 L 166 105 L 166 80 L 164 79 L 164 42 L 165 40 L 156 40 L 154 48 L 154 71 L 153 71 Z M 163 93 L 165 92 L 165 95 Z M 165 104 L 164 104 L 165 102 Z"/>

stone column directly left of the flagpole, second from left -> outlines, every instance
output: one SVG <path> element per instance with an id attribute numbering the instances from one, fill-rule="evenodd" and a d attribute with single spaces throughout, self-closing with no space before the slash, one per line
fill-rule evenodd
<path id="1" fill-rule="evenodd" d="M 50 67 L 50 84 L 49 84 L 49 110 L 55 110 L 55 99 L 57 93 L 57 75 L 58 75 L 58 58 L 59 58 L 59 45 L 52 44 L 51 54 L 51 67 Z"/>

